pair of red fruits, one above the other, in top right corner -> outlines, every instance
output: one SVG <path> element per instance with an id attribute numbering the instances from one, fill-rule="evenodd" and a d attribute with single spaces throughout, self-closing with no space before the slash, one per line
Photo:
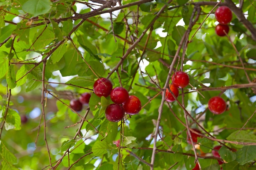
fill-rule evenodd
<path id="1" fill-rule="evenodd" d="M 215 32 L 219 36 L 225 36 L 229 32 L 227 25 L 232 20 L 232 12 L 229 7 L 221 6 L 216 9 L 215 18 L 219 24 L 215 27 Z"/>

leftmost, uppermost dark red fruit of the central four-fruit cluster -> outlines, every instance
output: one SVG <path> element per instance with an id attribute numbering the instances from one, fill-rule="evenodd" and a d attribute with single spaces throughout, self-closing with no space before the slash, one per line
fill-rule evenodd
<path id="1" fill-rule="evenodd" d="M 106 78 L 99 78 L 93 84 L 93 91 L 99 97 L 108 97 L 108 95 L 110 95 L 110 92 L 112 91 L 112 88 L 112 83 L 109 79 Z"/>

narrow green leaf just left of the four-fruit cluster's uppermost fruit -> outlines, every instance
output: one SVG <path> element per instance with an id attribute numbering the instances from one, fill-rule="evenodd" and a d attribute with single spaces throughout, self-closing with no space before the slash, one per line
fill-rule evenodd
<path id="1" fill-rule="evenodd" d="M 75 86 L 80 87 L 88 87 L 92 86 L 94 84 L 94 78 L 93 76 L 87 76 L 87 77 L 74 77 L 66 82 L 66 84 L 72 84 Z"/>

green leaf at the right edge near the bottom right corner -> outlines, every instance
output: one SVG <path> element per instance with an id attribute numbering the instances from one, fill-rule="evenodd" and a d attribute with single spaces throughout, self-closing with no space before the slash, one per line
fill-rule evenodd
<path id="1" fill-rule="evenodd" d="M 236 152 L 236 161 L 241 165 L 256 159 L 256 146 L 243 146 Z"/>

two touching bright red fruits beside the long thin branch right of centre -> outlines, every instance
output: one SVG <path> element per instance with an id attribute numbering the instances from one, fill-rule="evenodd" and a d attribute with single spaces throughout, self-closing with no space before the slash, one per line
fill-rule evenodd
<path id="1" fill-rule="evenodd" d="M 177 98 L 179 96 L 179 90 L 178 88 L 184 88 L 189 84 L 189 75 L 183 71 L 177 71 L 172 76 L 172 83 L 170 84 L 169 88 L 167 88 L 165 93 L 165 99 L 167 102 L 173 102 L 175 101 L 175 97 Z M 172 93 L 175 95 L 175 97 L 172 95 Z"/>

